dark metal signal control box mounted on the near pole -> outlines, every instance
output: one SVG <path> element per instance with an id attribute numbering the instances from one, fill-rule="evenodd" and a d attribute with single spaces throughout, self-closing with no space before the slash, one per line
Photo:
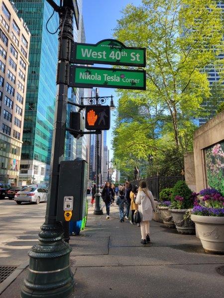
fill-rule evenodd
<path id="1" fill-rule="evenodd" d="M 61 161 L 57 221 L 81 221 L 86 216 L 88 163 L 82 158 Z"/>

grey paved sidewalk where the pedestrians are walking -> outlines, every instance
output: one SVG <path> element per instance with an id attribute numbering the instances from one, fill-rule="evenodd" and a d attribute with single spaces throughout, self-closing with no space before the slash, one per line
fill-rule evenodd
<path id="1" fill-rule="evenodd" d="M 224 266 L 224 256 L 205 253 L 195 235 L 181 235 L 152 221 L 151 243 L 143 246 L 140 227 L 119 223 L 116 206 L 109 220 L 93 211 L 91 207 L 85 231 L 70 240 L 72 298 L 224 297 L 224 276 L 216 271 Z M 1 298 L 19 298 L 26 270 Z"/>

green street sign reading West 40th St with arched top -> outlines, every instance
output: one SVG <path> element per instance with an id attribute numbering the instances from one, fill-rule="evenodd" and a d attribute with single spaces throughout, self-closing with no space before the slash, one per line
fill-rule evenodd
<path id="1" fill-rule="evenodd" d="M 145 67 L 146 49 L 125 47 L 120 41 L 114 39 L 104 39 L 96 45 L 73 43 L 70 62 Z"/>

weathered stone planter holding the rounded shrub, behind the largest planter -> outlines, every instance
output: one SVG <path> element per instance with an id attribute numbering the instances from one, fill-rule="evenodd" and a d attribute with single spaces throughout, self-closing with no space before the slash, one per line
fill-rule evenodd
<path id="1" fill-rule="evenodd" d="M 184 220 L 185 212 L 188 209 L 169 209 L 177 231 L 181 234 L 195 234 L 195 223 L 191 219 Z"/>

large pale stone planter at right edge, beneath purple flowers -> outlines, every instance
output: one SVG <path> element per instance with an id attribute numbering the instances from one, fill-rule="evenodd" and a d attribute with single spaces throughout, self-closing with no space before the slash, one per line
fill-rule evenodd
<path id="1" fill-rule="evenodd" d="M 224 253 L 224 217 L 191 215 L 207 252 Z"/>

